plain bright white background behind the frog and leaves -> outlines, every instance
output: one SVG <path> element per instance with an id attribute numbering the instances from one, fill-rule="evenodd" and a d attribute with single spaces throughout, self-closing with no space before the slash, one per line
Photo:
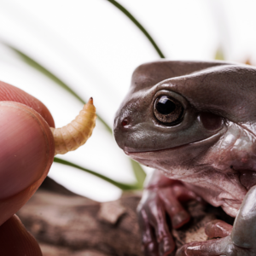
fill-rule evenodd
<path id="1" fill-rule="evenodd" d="M 119 3 L 145 26 L 168 59 L 212 60 L 221 45 L 226 60 L 256 63 L 253 0 Z M 85 101 L 93 96 L 97 113 L 110 126 L 133 70 L 159 59 L 143 33 L 106 0 L 0 0 L 0 40 L 47 67 Z M 67 91 L 3 45 L 0 79 L 44 102 L 56 127 L 67 125 L 82 108 Z M 135 182 L 129 160 L 99 122 L 84 147 L 62 158 L 123 183 Z M 121 194 L 97 177 L 60 164 L 53 164 L 49 176 L 97 201 Z"/>

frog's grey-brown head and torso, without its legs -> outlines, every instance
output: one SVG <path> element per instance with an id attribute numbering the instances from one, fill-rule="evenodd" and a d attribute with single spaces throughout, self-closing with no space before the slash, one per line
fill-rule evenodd
<path id="1" fill-rule="evenodd" d="M 196 187 L 213 206 L 236 216 L 256 184 L 255 95 L 255 67 L 144 64 L 133 73 L 114 136 L 134 160 Z"/>

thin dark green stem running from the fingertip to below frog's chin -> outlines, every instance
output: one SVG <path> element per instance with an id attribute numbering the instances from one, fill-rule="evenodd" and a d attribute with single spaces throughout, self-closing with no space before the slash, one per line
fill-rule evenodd
<path id="1" fill-rule="evenodd" d="M 125 184 L 125 183 L 116 182 L 116 181 L 114 181 L 113 179 L 111 179 L 109 177 L 106 177 L 106 176 L 104 176 L 100 173 L 97 173 L 97 172 L 90 171 L 89 169 L 86 169 L 84 167 L 75 165 L 75 164 L 73 164 L 73 163 L 71 163 L 67 160 L 62 160 L 60 158 L 55 157 L 54 162 L 59 163 L 61 165 L 65 165 L 65 166 L 72 166 L 72 167 L 77 168 L 79 170 L 82 170 L 84 172 L 88 172 L 92 175 L 95 175 L 96 177 L 102 178 L 103 180 L 107 181 L 108 183 L 112 183 L 114 186 L 116 186 L 116 187 L 118 187 L 119 189 L 122 189 L 122 190 L 140 189 L 140 188 L 138 188 L 137 184 Z"/>

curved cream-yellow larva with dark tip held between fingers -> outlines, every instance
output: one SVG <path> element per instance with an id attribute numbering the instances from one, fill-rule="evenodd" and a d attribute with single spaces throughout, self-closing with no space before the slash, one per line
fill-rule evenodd
<path id="1" fill-rule="evenodd" d="M 68 125 L 52 128 L 55 139 L 55 154 L 66 154 L 84 145 L 91 136 L 96 122 L 96 108 L 93 99 L 84 105 L 79 115 Z"/>

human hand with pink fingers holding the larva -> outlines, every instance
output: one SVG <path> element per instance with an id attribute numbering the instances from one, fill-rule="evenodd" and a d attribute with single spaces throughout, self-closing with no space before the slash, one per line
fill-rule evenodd
<path id="1" fill-rule="evenodd" d="M 49 172 L 55 127 L 42 102 L 0 82 L 0 255 L 42 256 L 37 241 L 15 216 Z"/>

